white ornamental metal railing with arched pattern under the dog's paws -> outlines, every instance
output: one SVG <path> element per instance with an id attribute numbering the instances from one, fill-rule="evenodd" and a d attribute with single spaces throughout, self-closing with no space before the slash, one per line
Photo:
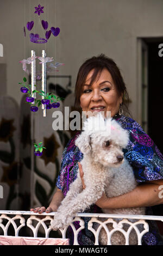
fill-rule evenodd
<path id="1" fill-rule="evenodd" d="M 10 215 L 10 216 L 8 216 Z M 39 216 L 42 215 L 42 218 Z M 9 226 L 12 225 L 15 231 L 15 236 L 19 236 L 20 230 L 27 226 L 30 230 L 32 230 L 32 235 L 30 237 L 37 237 L 38 230 L 41 228 L 45 233 L 45 237 L 49 237 L 49 233 L 52 228 L 49 227 L 53 217 L 55 216 L 55 212 L 51 212 L 46 214 L 43 212 L 42 214 L 36 214 L 31 211 L 0 211 L 0 235 L 8 236 Z M 137 235 L 137 244 L 141 245 L 142 236 L 149 231 L 148 223 L 146 220 L 154 220 L 154 221 L 162 221 L 163 216 L 149 216 L 149 215 L 116 215 L 116 214 L 77 214 L 73 221 L 80 222 L 80 228 L 76 230 L 73 223 L 71 223 L 71 227 L 74 233 L 74 245 L 78 245 L 78 234 L 79 231 L 84 229 L 84 221 L 81 217 L 91 217 L 91 220 L 88 223 L 88 229 L 92 231 L 95 235 L 95 245 L 99 244 L 99 233 L 103 228 L 108 236 L 108 245 L 111 245 L 111 236 L 115 233 L 115 231 L 120 231 L 125 238 L 126 245 L 129 245 L 129 235 L 132 229 L 135 230 Z M 103 219 L 105 218 L 105 220 Z M 116 222 L 117 218 L 119 219 Z M 121 220 L 120 220 L 121 219 Z M 6 221 L 5 221 L 6 220 Z M 15 221 L 19 220 L 20 225 L 18 225 Z M 132 222 L 131 220 L 137 220 L 136 222 Z M 48 221 L 48 226 L 47 222 Z M 3 223 L 5 222 L 5 223 Z M 98 223 L 98 227 L 95 228 L 95 224 Z M 112 223 L 112 229 L 109 230 L 107 225 L 108 223 Z M 4 225 L 5 224 L 5 225 Z M 124 225 L 128 224 L 129 228 L 127 230 L 124 229 Z M 137 227 L 137 225 L 142 224 L 143 230 Z M 3 230 L 3 234 L 2 234 Z M 62 238 L 66 238 L 66 230 L 61 231 Z"/>

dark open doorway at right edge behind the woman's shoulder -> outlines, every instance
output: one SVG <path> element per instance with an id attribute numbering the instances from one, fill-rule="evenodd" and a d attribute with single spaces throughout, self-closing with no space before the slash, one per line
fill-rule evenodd
<path id="1" fill-rule="evenodd" d="M 163 154 L 162 103 L 163 103 L 163 56 L 159 57 L 159 45 L 163 38 L 144 39 L 148 46 L 148 135 Z M 163 215 L 163 205 L 153 206 L 154 215 Z M 163 235 L 163 222 L 158 222 Z"/>

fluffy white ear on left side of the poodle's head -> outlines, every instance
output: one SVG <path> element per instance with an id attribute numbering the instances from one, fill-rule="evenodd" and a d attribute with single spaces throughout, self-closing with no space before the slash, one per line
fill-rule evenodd
<path id="1" fill-rule="evenodd" d="M 76 146 L 83 154 L 88 154 L 91 151 L 91 136 L 83 131 L 75 141 Z"/>

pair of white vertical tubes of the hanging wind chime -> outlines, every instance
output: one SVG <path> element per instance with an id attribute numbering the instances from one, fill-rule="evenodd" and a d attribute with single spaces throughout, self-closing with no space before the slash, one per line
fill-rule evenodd
<path id="1" fill-rule="evenodd" d="M 31 51 L 31 57 L 34 58 L 33 62 L 31 63 L 31 90 L 35 90 L 35 84 L 36 84 L 36 60 L 35 60 L 35 51 Z M 42 57 L 46 57 L 45 50 L 42 50 Z M 46 89 L 46 63 L 42 62 L 42 90 L 45 92 L 45 95 L 47 93 Z M 36 99 L 36 93 L 33 94 L 34 99 Z M 43 100 L 43 96 L 42 96 Z M 34 102 L 33 102 L 34 103 Z M 46 104 L 42 104 L 43 109 L 43 117 L 46 117 Z"/>

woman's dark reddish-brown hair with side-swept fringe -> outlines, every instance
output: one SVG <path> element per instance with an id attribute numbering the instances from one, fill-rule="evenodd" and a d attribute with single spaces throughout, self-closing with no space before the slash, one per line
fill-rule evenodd
<path id="1" fill-rule="evenodd" d="M 76 87 L 75 87 L 75 101 L 74 107 L 80 108 L 80 96 L 82 95 L 82 85 L 86 82 L 86 77 L 92 69 L 95 69 L 91 77 L 90 85 L 95 81 L 97 75 L 98 78 L 101 75 L 102 70 L 106 68 L 112 76 L 112 80 L 117 89 L 118 95 L 123 94 L 122 108 L 125 114 L 129 114 L 128 104 L 129 104 L 129 95 L 127 92 L 126 85 L 123 81 L 120 69 L 117 67 L 114 60 L 105 56 L 105 54 L 99 54 L 99 56 L 93 56 L 90 59 L 87 59 L 82 66 L 80 66 Z"/>

